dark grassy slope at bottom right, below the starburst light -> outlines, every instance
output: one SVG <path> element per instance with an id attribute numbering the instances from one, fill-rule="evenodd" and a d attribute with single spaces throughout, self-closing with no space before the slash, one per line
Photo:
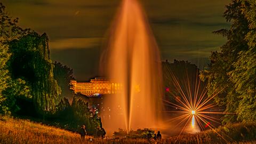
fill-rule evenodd
<path id="1" fill-rule="evenodd" d="M 166 139 L 167 143 L 256 143 L 256 124 L 238 123 L 220 126 L 196 134 Z"/>

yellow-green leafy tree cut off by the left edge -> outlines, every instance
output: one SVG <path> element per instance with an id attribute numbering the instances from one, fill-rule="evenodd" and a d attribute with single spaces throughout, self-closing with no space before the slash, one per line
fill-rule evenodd
<path id="1" fill-rule="evenodd" d="M 20 37 L 31 33 L 30 29 L 22 29 L 18 25 L 18 18 L 12 18 L 5 11 L 5 6 L 0 3 L 0 55 L 1 55 L 1 109 L 2 113 L 10 113 L 11 111 L 18 110 L 15 105 L 17 97 L 25 96 L 31 97 L 29 93 L 29 87 L 22 79 L 13 79 L 9 73 L 9 67 L 7 62 L 12 55 L 9 50 L 9 43 L 13 39 L 19 39 Z"/>

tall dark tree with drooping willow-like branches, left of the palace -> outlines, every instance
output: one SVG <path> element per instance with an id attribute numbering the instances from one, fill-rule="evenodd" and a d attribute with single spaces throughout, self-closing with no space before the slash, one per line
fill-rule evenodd
<path id="1" fill-rule="evenodd" d="M 31 87 L 36 109 L 43 117 L 55 111 L 61 90 L 53 77 L 49 39 L 46 34 L 28 34 L 10 42 L 12 78 L 21 78 Z"/>

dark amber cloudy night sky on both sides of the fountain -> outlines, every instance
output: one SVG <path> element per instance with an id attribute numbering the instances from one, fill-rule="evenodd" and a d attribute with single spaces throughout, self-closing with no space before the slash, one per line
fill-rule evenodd
<path id="1" fill-rule="evenodd" d="M 78 81 L 97 76 L 100 50 L 121 0 L 0 0 L 22 28 L 50 38 L 53 61 L 74 69 Z M 227 0 L 143 0 L 162 60 L 204 63 L 226 39 Z"/>

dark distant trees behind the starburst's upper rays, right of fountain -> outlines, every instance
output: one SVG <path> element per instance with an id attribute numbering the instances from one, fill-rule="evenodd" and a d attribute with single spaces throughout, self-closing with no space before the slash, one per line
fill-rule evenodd
<path id="1" fill-rule="evenodd" d="M 188 61 L 174 60 L 173 63 L 163 62 L 165 99 L 171 102 L 182 100 L 183 93 L 194 99 L 195 92 L 203 92 L 205 83 L 199 79 L 199 69 Z M 197 90 L 198 89 L 198 90 Z"/>

